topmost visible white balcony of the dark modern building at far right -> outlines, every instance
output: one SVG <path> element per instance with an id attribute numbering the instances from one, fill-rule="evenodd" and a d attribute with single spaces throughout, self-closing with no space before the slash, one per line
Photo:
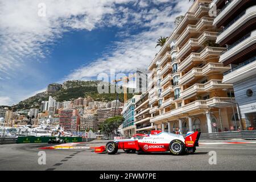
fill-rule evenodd
<path id="1" fill-rule="evenodd" d="M 224 19 L 230 13 L 230 11 L 235 9 L 237 5 L 241 3 L 241 1 L 244 0 L 229 0 L 229 3 L 222 7 L 222 9 L 218 12 L 216 18 L 213 21 L 213 25 L 217 26 L 217 24 L 220 23 L 221 20 Z"/>

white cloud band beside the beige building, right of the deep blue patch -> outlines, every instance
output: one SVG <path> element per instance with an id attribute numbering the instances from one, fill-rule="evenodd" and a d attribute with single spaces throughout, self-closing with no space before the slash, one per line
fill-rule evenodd
<path id="1" fill-rule="evenodd" d="M 115 47 L 111 50 L 110 55 L 94 60 L 90 65 L 76 69 L 66 77 L 66 80 L 86 80 L 100 73 L 109 73 L 110 68 L 115 69 L 117 73 L 133 72 L 137 68 L 146 69 L 156 52 L 158 52 L 158 49 L 155 49 L 156 40 L 160 36 L 171 34 L 175 18 L 184 14 L 190 5 L 190 3 L 179 1 L 175 7 L 168 6 L 163 10 L 154 8 L 149 11 L 135 12 L 134 16 L 137 16 L 137 14 L 141 16 L 141 20 L 137 24 L 141 24 L 142 27 L 150 27 L 149 30 L 129 36 L 122 42 L 115 42 Z M 124 33 L 122 32 L 122 34 Z"/>

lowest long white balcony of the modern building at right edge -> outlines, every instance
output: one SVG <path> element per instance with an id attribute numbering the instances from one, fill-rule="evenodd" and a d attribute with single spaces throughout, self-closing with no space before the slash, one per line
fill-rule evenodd
<path id="1" fill-rule="evenodd" d="M 253 57 L 235 68 L 224 73 L 223 82 L 234 84 L 235 82 L 244 80 L 247 77 L 255 75 L 256 57 Z"/>

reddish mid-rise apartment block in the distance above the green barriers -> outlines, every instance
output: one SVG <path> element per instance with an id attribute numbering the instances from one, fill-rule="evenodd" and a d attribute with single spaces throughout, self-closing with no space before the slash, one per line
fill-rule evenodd
<path id="1" fill-rule="evenodd" d="M 80 122 L 79 112 L 76 109 L 59 110 L 60 126 L 66 131 L 77 131 Z"/>

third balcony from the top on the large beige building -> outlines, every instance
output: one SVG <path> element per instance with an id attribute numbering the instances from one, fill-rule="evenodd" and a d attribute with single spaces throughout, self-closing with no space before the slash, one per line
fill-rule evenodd
<path id="1" fill-rule="evenodd" d="M 218 33 L 217 32 L 204 32 L 198 39 L 189 39 L 183 47 L 180 48 L 180 51 L 177 53 L 177 59 L 181 59 L 187 53 L 193 49 L 199 49 L 202 47 L 202 44 L 207 40 L 216 40 Z M 193 51 L 195 52 L 195 51 Z"/>

